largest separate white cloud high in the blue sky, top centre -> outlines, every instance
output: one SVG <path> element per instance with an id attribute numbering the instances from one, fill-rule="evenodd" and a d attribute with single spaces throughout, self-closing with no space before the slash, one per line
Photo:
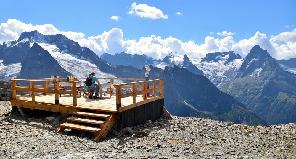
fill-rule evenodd
<path id="1" fill-rule="evenodd" d="M 148 6 L 147 4 L 137 4 L 136 2 L 131 5 L 128 14 L 137 15 L 141 18 L 168 19 L 168 15 L 163 15 L 160 9 L 154 6 Z"/>

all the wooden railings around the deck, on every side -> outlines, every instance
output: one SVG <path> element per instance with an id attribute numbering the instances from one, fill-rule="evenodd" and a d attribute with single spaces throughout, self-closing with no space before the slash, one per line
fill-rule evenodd
<path id="1" fill-rule="evenodd" d="M 35 96 L 39 95 L 47 95 L 47 94 L 54 94 L 54 103 L 49 104 L 59 104 L 59 94 L 69 94 L 73 95 L 73 106 L 77 106 L 77 94 L 78 91 L 75 89 L 77 83 L 80 81 L 76 81 L 76 79 L 82 79 L 81 81 L 84 81 L 83 79 L 86 78 L 74 78 L 74 81 L 62 81 L 67 80 L 67 78 L 44 78 L 44 79 L 11 79 L 12 81 L 12 96 L 11 99 L 16 99 L 18 97 L 32 97 L 32 101 L 35 102 Z M 59 80 L 59 81 L 56 81 Z M 155 101 L 157 99 L 163 98 L 163 79 L 151 79 L 149 81 L 145 81 L 143 78 L 98 78 L 98 80 L 110 80 L 110 83 L 113 83 L 115 89 L 116 89 L 116 109 L 119 112 L 122 112 L 124 110 L 130 109 L 132 107 L 140 106 L 142 104 L 148 103 L 150 101 Z M 133 82 L 130 83 L 118 83 L 114 84 L 115 80 L 131 80 Z M 29 82 L 29 86 L 16 86 L 16 82 Z M 35 83 L 41 83 L 43 82 L 43 85 L 35 85 Z M 54 84 L 48 84 L 49 82 L 52 82 Z M 60 82 L 66 82 L 66 83 L 72 83 L 73 90 L 59 90 L 59 83 Z M 153 83 L 152 86 L 147 88 L 147 82 Z M 157 85 L 158 84 L 158 85 Z M 53 89 L 49 89 L 53 88 Z M 121 93 L 122 88 L 129 88 L 131 92 L 128 93 Z M 139 89 L 139 90 L 138 90 Z M 16 91 L 29 91 L 29 94 L 26 95 L 16 95 Z M 126 91 L 126 90 L 125 90 Z M 41 92 L 41 93 L 35 93 L 35 92 Z M 147 99 L 147 93 L 153 92 L 153 97 Z M 156 93 L 158 93 L 158 96 L 156 96 Z M 136 96 L 142 94 L 143 100 L 136 102 Z M 121 99 L 132 96 L 132 104 L 122 107 L 121 106 Z"/>

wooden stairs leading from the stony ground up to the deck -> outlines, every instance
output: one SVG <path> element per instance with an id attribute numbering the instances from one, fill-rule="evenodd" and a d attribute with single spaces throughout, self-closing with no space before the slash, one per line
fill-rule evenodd
<path id="1" fill-rule="evenodd" d="M 67 122 L 59 125 L 60 128 L 57 132 L 66 128 L 94 132 L 94 140 L 99 141 L 101 137 L 107 136 L 114 123 L 115 113 L 78 109 L 72 117 L 67 118 Z"/>

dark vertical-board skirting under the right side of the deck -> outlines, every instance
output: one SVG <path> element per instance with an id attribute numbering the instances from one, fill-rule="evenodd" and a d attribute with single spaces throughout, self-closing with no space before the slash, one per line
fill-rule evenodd
<path id="1" fill-rule="evenodd" d="M 163 98 L 141 106 L 120 112 L 117 129 L 144 124 L 147 120 L 155 121 L 163 114 Z"/>

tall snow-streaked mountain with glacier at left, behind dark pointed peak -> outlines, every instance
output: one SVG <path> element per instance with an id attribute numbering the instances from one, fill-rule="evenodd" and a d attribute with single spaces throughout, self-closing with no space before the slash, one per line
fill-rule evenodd
<path id="1" fill-rule="evenodd" d="M 17 41 L 4 42 L 0 46 L 0 80 L 9 81 L 10 78 L 28 77 L 24 76 L 27 73 L 22 74 L 20 72 L 21 69 L 25 70 L 25 68 L 22 68 L 22 65 L 33 58 L 32 56 L 26 56 L 33 45 L 36 45 L 35 47 L 40 46 L 42 50 L 46 50 L 57 61 L 58 67 L 65 70 L 62 73 L 62 77 L 66 77 L 67 74 L 65 72 L 75 77 L 86 77 L 91 71 L 94 71 L 98 78 L 118 78 L 120 76 L 116 74 L 120 74 L 120 69 L 123 69 L 116 68 L 114 65 L 107 63 L 89 48 L 79 46 L 77 42 L 68 39 L 64 35 L 42 35 L 37 31 L 32 31 L 23 32 Z M 39 49 L 38 51 L 40 52 L 41 50 Z M 35 55 L 33 52 L 31 50 L 30 53 Z M 46 53 L 38 53 L 37 55 L 41 57 L 45 56 Z M 33 59 L 35 59 L 35 56 Z M 35 60 L 36 62 L 39 61 L 38 58 Z M 34 66 L 33 63 L 29 64 L 32 68 L 37 66 Z M 44 71 L 32 71 L 30 75 L 34 76 L 34 78 L 49 78 L 51 74 L 55 73 L 53 70 L 48 72 L 49 68 L 53 67 L 50 63 L 42 65 L 42 67 L 45 67 L 42 68 Z M 131 75 L 134 74 L 131 73 Z"/>

